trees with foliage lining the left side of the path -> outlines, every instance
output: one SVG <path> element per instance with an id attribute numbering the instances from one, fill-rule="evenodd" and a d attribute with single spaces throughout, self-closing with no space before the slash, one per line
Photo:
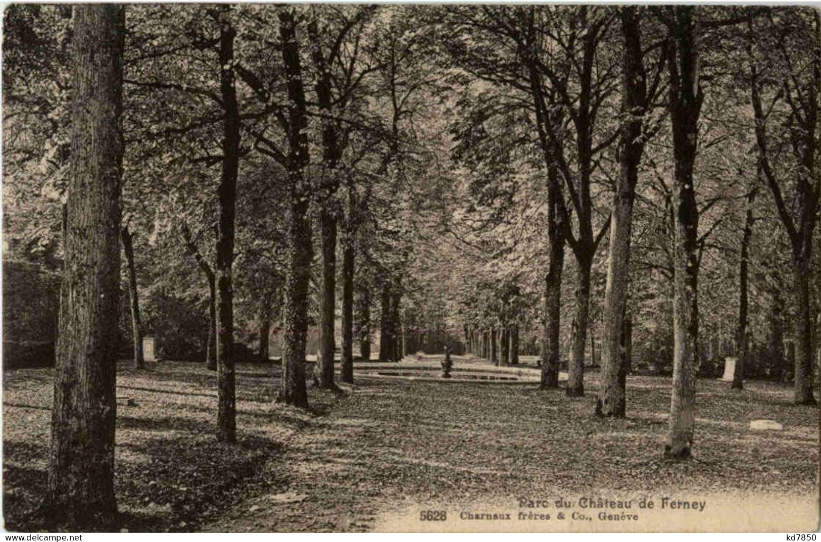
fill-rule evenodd
<path id="1" fill-rule="evenodd" d="M 312 299 L 321 330 L 314 377 L 319 387 L 336 385 L 337 250 L 342 379 L 352 380 L 354 331 L 369 356 L 372 307 L 381 314 L 380 356 L 398 355 L 407 215 L 428 200 L 406 186 L 419 185 L 436 158 L 420 143 L 427 128 L 417 126 L 430 40 L 405 11 L 7 11 L 9 251 L 64 267 L 49 471 L 55 517 L 110 526 L 116 512 L 121 244 L 137 368 L 141 292 L 208 307 L 218 439 L 236 441 L 236 293 L 242 311 L 257 312 L 260 342 L 279 320 L 287 404 L 308 406 Z M 35 221 L 46 227 L 34 229 Z M 166 322 L 180 327 L 181 312 Z"/>

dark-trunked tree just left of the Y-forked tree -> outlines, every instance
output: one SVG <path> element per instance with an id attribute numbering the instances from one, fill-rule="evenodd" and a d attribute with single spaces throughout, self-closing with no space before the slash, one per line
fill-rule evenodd
<path id="1" fill-rule="evenodd" d="M 484 132 L 493 117 L 509 115 L 511 111 L 524 110 L 534 119 L 538 140 L 535 149 L 539 153 L 543 168 L 544 185 L 547 188 L 547 237 L 549 260 L 542 283 L 544 285 L 544 316 L 542 328 L 541 388 L 558 387 L 560 348 L 560 307 L 562 294 L 562 271 L 564 269 L 564 247 L 569 213 L 567 212 L 562 188 L 562 175 L 558 167 L 558 155 L 562 153 L 563 135 L 552 137 L 562 131 L 566 115 L 557 103 L 557 88 L 565 85 L 566 66 L 554 62 L 549 54 L 550 44 L 555 42 L 549 26 L 562 13 L 557 7 L 483 7 L 477 11 L 469 7 L 450 8 L 453 17 L 452 28 L 461 30 L 454 33 L 458 39 L 452 45 L 452 56 L 456 65 L 471 76 L 489 83 L 493 94 L 487 102 L 479 102 L 475 113 L 469 117 L 481 122 Z M 488 55 L 493 50 L 494 55 Z M 522 69 L 522 68 L 525 69 Z M 553 76 L 548 76 L 548 73 Z M 557 82 L 559 85 L 557 85 Z M 549 85 L 548 85 L 549 83 Z M 521 96 L 519 95 L 521 93 Z M 483 96 L 483 94 L 479 94 Z M 511 124 L 505 123 L 508 130 Z M 530 134 L 528 138 L 532 137 Z M 522 138 L 525 139 L 525 138 Z M 532 144 L 532 140 L 526 140 Z M 516 140 L 521 144 L 521 140 Z M 502 154 L 498 149 L 488 157 Z M 484 325 L 490 324 L 485 321 Z M 493 346 L 496 335 L 493 330 L 483 333 L 484 356 L 495 361 Z"/>

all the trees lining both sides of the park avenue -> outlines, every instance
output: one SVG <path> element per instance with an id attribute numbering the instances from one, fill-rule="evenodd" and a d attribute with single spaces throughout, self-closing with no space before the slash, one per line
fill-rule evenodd
<path id="1" fill-rule="evenodd" d="M 598 321 L 602 416 L 625 415 L 635 328 L 672 359 L 673 458 L 728 335 L 741 384 L 750 329 L 774 350 L 791 330 L 814 402 L 814 11 L 21 5 L 5 23 L 4 252 L 63 266 L 58 517 L 116 512 L 124 313 L 138 367 L 145 320 L 208 345 L 227 442 L 241 328 L 264 357 L 282 330 L 280 400 L 307 407 L 308 328 L 334 388 L 337 316 L 343 380 L 378 321 L 383 361 L 424 330 L 516 363 L 538 335 L 542 387 L 566 351 L 571 396 Z"/>

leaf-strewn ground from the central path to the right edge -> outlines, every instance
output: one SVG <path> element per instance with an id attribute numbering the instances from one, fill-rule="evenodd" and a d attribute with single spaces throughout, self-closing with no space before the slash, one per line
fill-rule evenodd
<path id="1" fill-rule="evenodd" d="M 792 407 L 774 384 L 741 394 L 699 385 L 697 461 L 671 464 L 661 460 L 667 379 L 631 377 L 626 420 L 591 416 L 594 393 L 362 382 L 283 443 L 249 498 L 204 530 L 371 531 L 420 503 L 515 503 L 548 491 L 814 490 L 817 409 Z M 786 430 L 751 434 L 756 417 Z"/>

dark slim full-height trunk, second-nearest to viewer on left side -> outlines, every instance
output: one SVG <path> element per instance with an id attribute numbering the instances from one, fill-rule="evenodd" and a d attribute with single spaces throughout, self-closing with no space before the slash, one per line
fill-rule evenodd
<path id="1" fill-rule="evenodd" d="M 236 391 L 233 359 L 234 307 L 232 265 L 234 261 L 234 217 L 236 177 L 240 168 L 240 117 L 234 87 L 234 37 L 229 18 L 231 7 L 223 5 L 225 22 L 219 32 L 220 90 L 225 108 L 222 122 L 222 176 L 219 184 L 219 229 L 217 237 L 217 439 L 236 442 Z"/>

